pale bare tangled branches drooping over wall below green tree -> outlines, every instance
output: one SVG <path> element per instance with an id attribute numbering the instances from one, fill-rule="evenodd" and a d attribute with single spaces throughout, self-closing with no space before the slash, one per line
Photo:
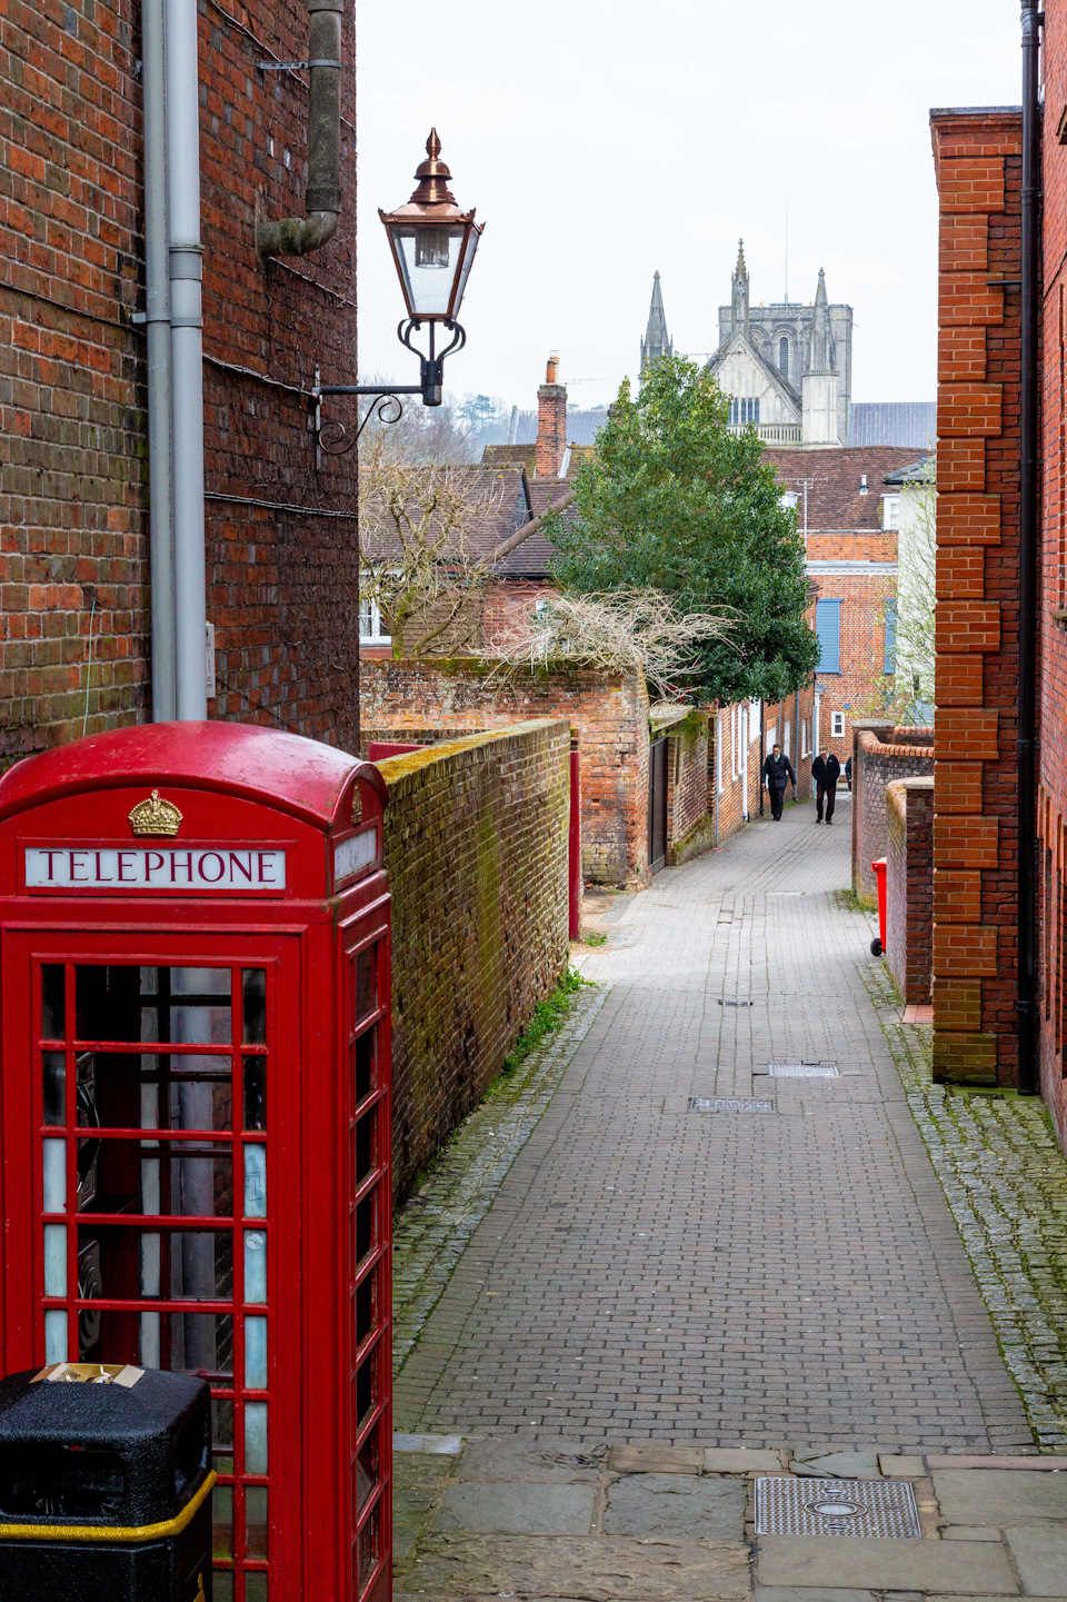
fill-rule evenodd
<path id="1" fill-rule="evenodd" d="M 676 698 L 697 666 L 697 642 L 729 639 L 724 614 L 681 614 L 660 590 L 553 594 L 493 647 L 505 673 L 566 665 L 607 673 L 641 671 L 665 698 Z"/>

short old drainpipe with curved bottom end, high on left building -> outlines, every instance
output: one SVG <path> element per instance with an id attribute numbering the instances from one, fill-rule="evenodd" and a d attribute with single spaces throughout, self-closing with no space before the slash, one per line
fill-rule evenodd
<path id="1" fill-rule="evenodd" d="M 343 0 L 308 0 L 308 194 L 306 216 L 272 223 L 256 211 L 256 252 L 306 256 L 333 235 L 341 216 L 341 13 Z"/>

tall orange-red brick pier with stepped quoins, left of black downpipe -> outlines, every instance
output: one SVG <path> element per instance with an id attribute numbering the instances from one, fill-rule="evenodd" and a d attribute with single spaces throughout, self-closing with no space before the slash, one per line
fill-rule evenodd
<path id="1" fill-rule="evenodd" d="M 937 112 L 934 1075 L 1017 1073 L 1021 114 Z M 993 282 L 990 282 L 993 280 Z"/>

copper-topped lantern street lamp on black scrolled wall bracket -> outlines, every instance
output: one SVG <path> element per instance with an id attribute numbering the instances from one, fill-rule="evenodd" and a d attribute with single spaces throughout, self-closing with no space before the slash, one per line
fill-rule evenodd
<path id="1" fill-rule="evenodd" d="M 466 332 L 457 317 L 485 224 L 474 221 L 474 211 L 461 211 L 455 203 L 449 189 L 452 173 L 441 160 L 436 128 L 429 130 L 426 160 L 420 162 L 415 178 L 418 184 L 407 205 L 396 211 L 378 210 L 378 216 L 385 223 L 407 308 L 397 340 L 418 356 L 420 383 L 389 389 L 381 384 L 320 384 L 316 368 L 311 391 L 316 402 L 316 441 L 328 455 L 351 450 L 373 415 L 383 423 L 396 423 L 402 413 L 399 396 L 421 396 L 423 405 L 441 405 L 445 357 L 466 344 Z M 428 325 L 428 351 L 420 351 L 412 343 L 423 324 Z M 444 349 L 437 348 L 437 328 L 450 335 Z M 352 439 L 348 439 L 341 423 L 327 425 L 340 429 L 340 436 L 327 444 L 320 423 L 322 396 L 373 396 L 375 402 Z"/>

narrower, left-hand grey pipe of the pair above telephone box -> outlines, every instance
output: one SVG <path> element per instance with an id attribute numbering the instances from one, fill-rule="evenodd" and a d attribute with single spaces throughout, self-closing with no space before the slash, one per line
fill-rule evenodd
<path id="1" fill-rule="evenodd" d="M 175 694 L 175 524 L 170 431 L 167 266 L 167 61 L 163 0 L 141 8 L 144 51 L 144 261 L 149 388 L 149 551 L 152 564 L 152 721 L 178 711 Z"/>

